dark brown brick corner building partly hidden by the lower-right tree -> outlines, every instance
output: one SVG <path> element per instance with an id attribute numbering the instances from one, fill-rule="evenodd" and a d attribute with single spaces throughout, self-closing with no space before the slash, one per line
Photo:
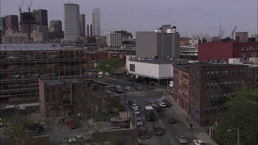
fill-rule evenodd
<path id="1" fill-rule="evenodd" d="M 235 90 L 247 85 L 247 65 L 191 63 L 189 65 L 191 118 L 202 126 L 218 122 L 222 111 L 226 109 L 224 98 L 233 96 Z"/>

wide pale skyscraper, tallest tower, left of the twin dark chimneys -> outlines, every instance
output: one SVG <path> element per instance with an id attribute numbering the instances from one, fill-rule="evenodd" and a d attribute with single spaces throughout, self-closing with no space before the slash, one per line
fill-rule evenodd
<path id="1" fill-rule="evenodd" d="M 80 8 L 74 3 L 63 5 L 65 14 L 65 38 L 66 41 L 76 41 L 80 36 Z"/>

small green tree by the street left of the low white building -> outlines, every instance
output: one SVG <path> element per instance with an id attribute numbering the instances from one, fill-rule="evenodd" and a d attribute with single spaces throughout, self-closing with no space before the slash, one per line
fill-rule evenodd
<path id="1" fill-rule="evenodd" d="M 106 58 L 98 62 L 98 70 L 103 71 L 103 74 L 105 74 L 106 72 L 108 72 L 109 74 L 114 74 L 116 69 L 119 69 L 123 66 L 124 64 L 121 61 L 114 58 Z"/>

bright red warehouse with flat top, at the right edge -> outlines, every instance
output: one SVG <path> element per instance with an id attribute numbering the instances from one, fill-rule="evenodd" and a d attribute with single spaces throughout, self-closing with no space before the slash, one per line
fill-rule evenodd
<path id="1" fill-rule="evenodd" d="M 209 62 L 211 59 L 222 59 L 228 62 L 228 58 L 258 57 L 257 42 L 228 42 L 228 43 L 199 43 L 198 60 Z"/>

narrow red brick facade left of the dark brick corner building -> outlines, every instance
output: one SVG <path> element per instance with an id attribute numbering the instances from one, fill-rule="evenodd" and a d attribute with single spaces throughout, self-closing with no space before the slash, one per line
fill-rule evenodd
<path id="1" fill-rule="evenodd" d="M 189 64 L 173 65 L 173 100 L 189 112 Z"/>

